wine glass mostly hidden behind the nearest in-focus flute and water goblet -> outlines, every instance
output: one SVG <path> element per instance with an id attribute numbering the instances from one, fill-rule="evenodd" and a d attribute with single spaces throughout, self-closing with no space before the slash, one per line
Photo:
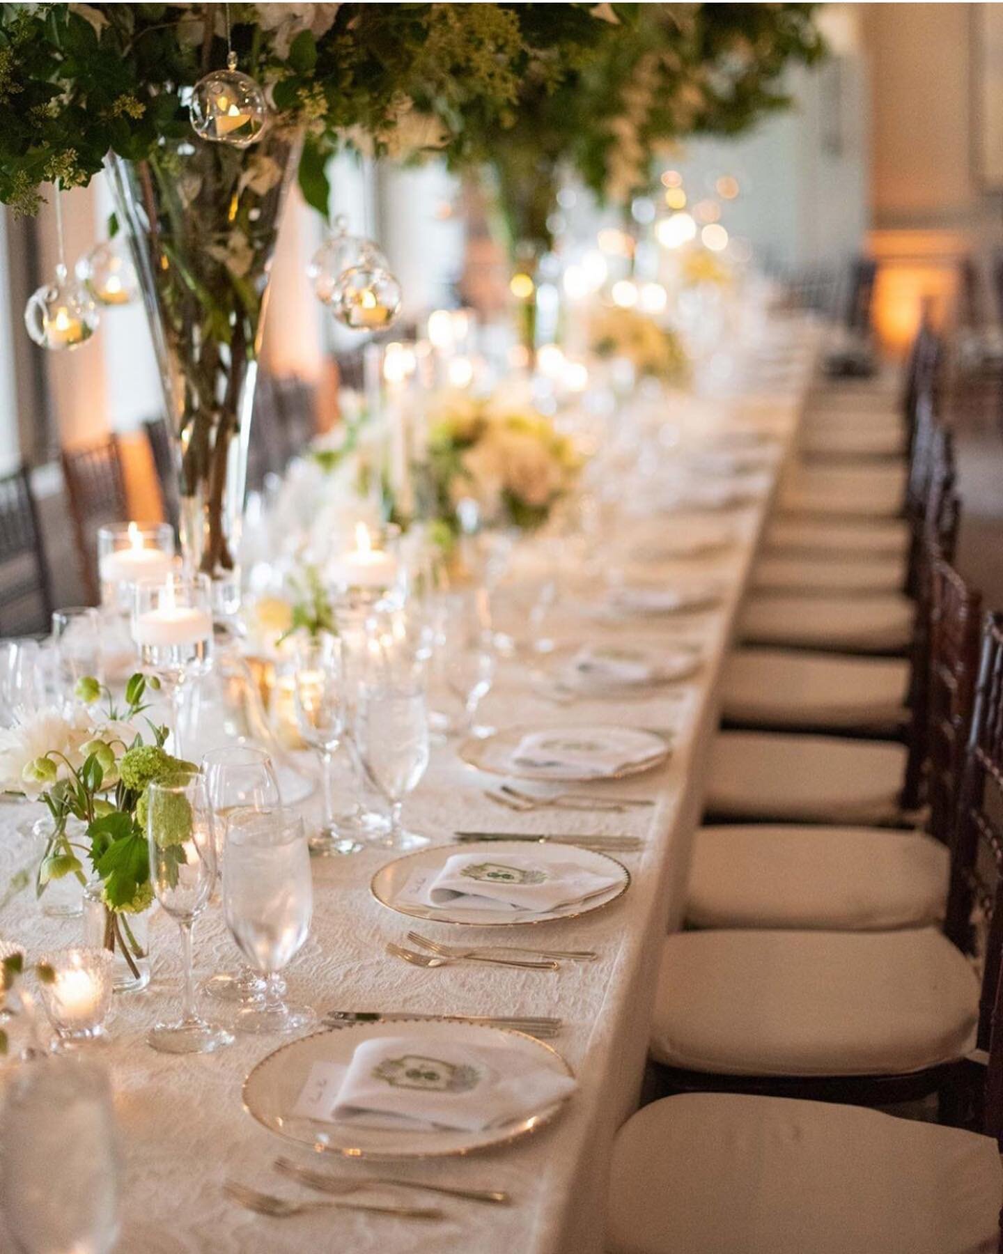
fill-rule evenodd
<path id="1" fill-rule="evenodd" d="M 278 779 L 268 754 L 253 745 L 224 745 L 202 759 L 206 789 L 216 819 L 216 855 L 223 867 L 226 823 L 237 810 L 272 810 L 280 803 Z M 202 992 L 222 1002 L 255 1002 L 265 993 L 265 981 L 246 963 L 236 971 L 218 971 Z"/>

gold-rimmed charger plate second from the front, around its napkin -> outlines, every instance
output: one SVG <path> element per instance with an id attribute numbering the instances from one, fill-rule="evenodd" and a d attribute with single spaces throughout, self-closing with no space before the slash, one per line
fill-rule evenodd
<path id="1" fill-rule="evenodd" d="M 537 851 L 547 860 L 555 851 L 562 856 L 570 856 L 587 870 L 599 875 L 616 874 L 617 883 L 611 884 L 602 893 L 596 893 L 584 902 L 573 902 L 569 905 L 558 907 L 555 910 L 510 910 L 500 914 L 499 910 L 476 910 L 469 907 L 458 905 L 421 905 L 411 902 L 399 902 L 397 897 L 416 872 L 425 870 L 429 875 L 446 864 L 453 854 L 474 853 L 484 850 L 484 856 L 490 861 L 498 861 L 507 855 L 525 858 L 527 854 Z M 631 873 L 611 858 L 609 854 L 598 853 L 594 849 L 582 849 L 578 845 L 564 845 L 559 836 L 553 840 L 533 844 L 525 840 L 484 840 L 464 845 L 430 845 L 428 849 L 419 849 L 412 854 L 404 854 L 394 861 L 381 867 L 372 877 L 369 890 L 374 898 L 396 914 L 406 914 L 412 919 L 426 919 L 430 923 L 453 923 L 466 928 L 515 928 L 527 927 L 534 923 L 557 923 L 560 919 L 577 919 L 582 914 L 601 910 L 618 898 L 623 897 L 631 887 Z"/>

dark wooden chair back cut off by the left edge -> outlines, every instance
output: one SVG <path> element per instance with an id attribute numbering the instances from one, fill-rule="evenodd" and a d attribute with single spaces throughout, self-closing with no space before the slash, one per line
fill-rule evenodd
<path id="1" fill-rule="evenodd" d="M 0 635 L 49 630 L 53 591 L 28 469 L 0 478 Z"/>

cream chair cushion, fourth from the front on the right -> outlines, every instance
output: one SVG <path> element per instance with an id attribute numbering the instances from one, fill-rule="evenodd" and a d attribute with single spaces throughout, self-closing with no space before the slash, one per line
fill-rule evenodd
<path id="1" fill-rule="evenodd" d="M 705 804 L 712 814 L 883 823 L 899 814 L 904 745 L 775 731 L 721 731 Z"/>

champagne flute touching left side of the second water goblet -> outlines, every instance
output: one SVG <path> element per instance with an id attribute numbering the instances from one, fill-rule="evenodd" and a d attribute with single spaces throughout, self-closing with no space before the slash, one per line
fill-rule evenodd
<path id="1" fill-rule="evenodd" d="M 300 650 L 293 672 L 293 707 L 300 735 L 321 759 L 323 821 L 310 838 L 310 851 L 323 856 L 359 853 L 361 840 L 339 828 L 331 774 L 345 735 L 347 707 L 345 657 L 337 636 L 325 632 Z"/>

